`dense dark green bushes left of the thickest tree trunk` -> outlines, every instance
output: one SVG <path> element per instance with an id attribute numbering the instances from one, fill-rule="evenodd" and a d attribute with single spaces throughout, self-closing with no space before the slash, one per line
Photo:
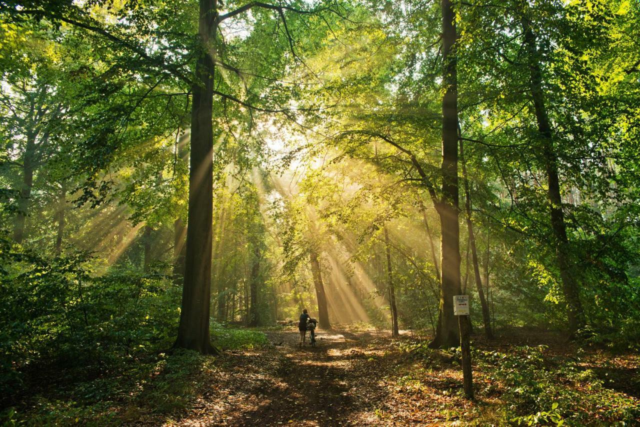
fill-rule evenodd
<path id="1" fill-rule="evenodd" d="M 179 289 L 159 273 L 96 277 L 77 252 L 44 258 L 4 246 L 0 272 L 0 394 L 47 367 L 97 376 L 122 359 L 172 344 Z"/>

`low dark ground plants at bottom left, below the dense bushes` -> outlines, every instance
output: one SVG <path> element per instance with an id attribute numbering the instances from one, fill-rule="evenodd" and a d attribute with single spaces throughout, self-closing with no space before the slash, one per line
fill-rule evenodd
<path id="1" fill-rule="evenodd" d="M 198 372 L 214 360 L 191 350 L 148 356 L 120 366 L 109 376 L 69 380 L 60 389 L 37 393 L 28 410 L 10 407 L 0 412 L 0 424 L 115 425 L 150 412 L 172 414 L 193 401 L 200 385 Z"/>

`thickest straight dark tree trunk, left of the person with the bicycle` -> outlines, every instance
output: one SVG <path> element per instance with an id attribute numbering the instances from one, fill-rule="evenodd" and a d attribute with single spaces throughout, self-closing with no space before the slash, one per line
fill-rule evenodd
<path id="1" fill-rule="evenodd" d="M 198 35 L 202 51 L 191 87 L 189 217 L 180 325 L 175 347 L 216 353 L 209 334 L 213 215 L 213 74 L 216 0 L 200 0 Z"/>

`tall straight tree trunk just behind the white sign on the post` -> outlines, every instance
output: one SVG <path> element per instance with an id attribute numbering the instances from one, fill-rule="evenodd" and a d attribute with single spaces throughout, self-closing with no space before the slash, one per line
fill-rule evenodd
<path id="1" fill-rule="evenodd" d="M 453 315 L 453 296 L 460 294 L 460 226 L 458 224 L 458 80 L 456 76 L 456 24 L 453 5 L 442 0 L 442 200 L 438 204 L 440 246 L 440 313 L 432 348 L 460 343 L 458 319 Z"/>

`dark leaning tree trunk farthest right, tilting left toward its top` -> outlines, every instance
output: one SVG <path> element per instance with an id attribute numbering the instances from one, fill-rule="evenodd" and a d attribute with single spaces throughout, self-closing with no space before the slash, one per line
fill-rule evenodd
<path id="1" fill-rule="evenodd" d="M 586 320 L 580 303 L 578 284 L 574 273 L 571 271 L 569 239 L 567 238 L 566 225 L 564 223 L 558 177 L 558 158 L 554 149 L 552 128 L 548 118 L 547 107 L 545 106 L 540 54 L 536 45 L 536 35 L 531 29 L 531 23 L 526 16 L 522 17 L 522 29 L 524 31 L 525 45 L 529 53 L 530 90 L 536 121 L 538 122 L 538 133 L 542 143 L 541 157 L 545 163 L 547 173 L 547 198 L 549 201 L 551 227 L 554 233 L 554 245 L 556 246 L 556 262 L 560 270 L 564 299 L 567 303 L 568 332 L 573 337 L 580 328 L 584 328 Z"/>

